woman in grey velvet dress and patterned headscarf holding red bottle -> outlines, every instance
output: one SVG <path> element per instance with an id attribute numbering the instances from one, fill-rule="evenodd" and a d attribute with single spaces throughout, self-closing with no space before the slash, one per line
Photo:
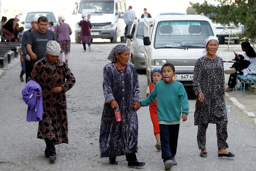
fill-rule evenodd
<path id="1" fill-rule="evenodd" d="M 138 75 L 128 63 L 130 50 L 124 44 L 115 46 L 103 68 L 105 103 L 100 125 L 100 157 L 109 157 L 110 164 L 118 164 L 117 156 L 125 155 L 128 166 L 144 166 L 136 158 L 138 151 L 138 116 L 133 105 L 140 106 Z M 114 109 L 119 108 L 122 123 L 116 123 Z"/>

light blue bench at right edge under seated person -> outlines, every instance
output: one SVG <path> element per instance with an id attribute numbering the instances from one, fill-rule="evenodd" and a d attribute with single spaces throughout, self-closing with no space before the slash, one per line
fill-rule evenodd
<path id="1" fill-rule="evenodd" d="M 237 91 L 238 80 L 241 80 L 240 94 L 242 94 L 242 88 L 243 88 L 243 96 L 244 96 L 244 91 L 245 91 L 245 84 L 253 83 L 254 85 L 256 85 L 256 76 L 255 75 L 247 75 L 247 76 L 237 75 L 236 76 L 236 91 Z M 244 84 L 244 87 L 243 87 L 243 84 Z M 251 89 L 252 89 L 252 86 L 250 86 L 250 91 L 251 91 Z M 254 93 L 256 94 L 256 87 L 255 87 Z"/>

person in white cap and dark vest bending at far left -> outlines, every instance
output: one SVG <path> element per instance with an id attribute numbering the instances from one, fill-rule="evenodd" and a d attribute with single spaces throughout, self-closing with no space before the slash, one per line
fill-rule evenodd
<path id="1" fill-rule="evenodd" d="M 4 38 L 7 42 L 15 42 L 15 28 L 16 23 L 20 21 L 20 16 L 16 15 L 14 18 L 11 18 L 7 21 L 7 23 L 3 26 Z"/>

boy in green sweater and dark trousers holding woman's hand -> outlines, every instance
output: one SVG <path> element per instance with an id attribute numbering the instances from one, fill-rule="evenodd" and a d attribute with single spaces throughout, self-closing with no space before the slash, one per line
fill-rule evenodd
<path id="1" fill-rule="evenodd" d="M 180 82 L 173 80 L 175 74 L 175 67 L 172 64 L 164 64 L 164 80 L 158 81 L 151 94 L 140 101 L 141 106 L 148 106 L 157 98 L 162 159 L 166 170 L 177 164 L 174 156 L 177 151 L 180 118 L 186 121 L 189 112 L 187 93 Z M 139 108 L 140 106 L 134 106 L 135 110 Z"/>

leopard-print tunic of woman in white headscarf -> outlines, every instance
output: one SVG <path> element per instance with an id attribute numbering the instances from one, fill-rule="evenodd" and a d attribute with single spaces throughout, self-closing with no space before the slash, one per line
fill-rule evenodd
<path id="1" fill-rule="evenodd" d="M 219 119 L 228 121 L 225 106 L 225 80 L 223 60 L 216 56 L 208 59 L 205 56 L 195 63 L 193 89 L 196 96 L 204 94 L 203 103 L 196 99 L 194 124 L 217 123 Z"/>

